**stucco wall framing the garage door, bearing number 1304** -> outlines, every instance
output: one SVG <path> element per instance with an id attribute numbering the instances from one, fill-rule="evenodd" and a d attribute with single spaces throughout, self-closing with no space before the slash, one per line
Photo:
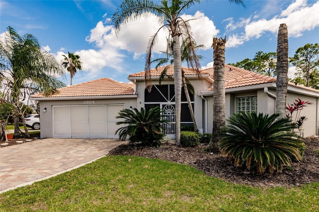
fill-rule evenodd
<path id="1" fill-rule="evenodd" d="M 85 100 L 60 100 L 60 101 L 40 101 L 40 123 L 41 123 L 41 138 L 52 138 L 52 106 L 75 106 L 75 105 L 124 105 L 124 108 L 136 107 L 136 98 L 133 99 L 105 99 L 105 100 L 90 100 L 91 104 L 85 104 Z M 94 101 L 94 104 L 92 103 Z M 46 108 L 46 112 L 43 109 Z"/>

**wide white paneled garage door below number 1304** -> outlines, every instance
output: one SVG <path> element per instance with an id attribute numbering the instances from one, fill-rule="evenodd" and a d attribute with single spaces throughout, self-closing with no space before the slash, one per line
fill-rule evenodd
<path id="1" fill-rule="evenodd" d="M 118 138 L 115 122 L 123 105 L 53 106 L 55 138 Z"/>

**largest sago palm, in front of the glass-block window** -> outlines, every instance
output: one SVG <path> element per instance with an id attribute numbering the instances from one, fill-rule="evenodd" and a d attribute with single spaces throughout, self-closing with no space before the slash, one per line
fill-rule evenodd
<path id="1" fill-rule="evenodd" d="M 278 118 L 279 114 L 263 115 L 236 113 L 229 117 L 222 128 L 220 151 L 227 154 L 237 167 L 263 173 L 266 169 L 282 172 L 290 166 L 292 158 L 302 159 L 302 141 L 291 131 L 289 118 Z"/>

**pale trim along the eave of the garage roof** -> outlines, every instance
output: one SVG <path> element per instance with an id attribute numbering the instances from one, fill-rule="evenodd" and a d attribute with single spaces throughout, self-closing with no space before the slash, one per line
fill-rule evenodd
<path id="1" fill-rule="evenodd" d="M 106 99 L 134 99 L 137 95 L 122 96 L 80 96 L 80 97 L 31 97 L 31 100 L 37 101 L 57 101 L 57 100 L 106 100 Z"/>

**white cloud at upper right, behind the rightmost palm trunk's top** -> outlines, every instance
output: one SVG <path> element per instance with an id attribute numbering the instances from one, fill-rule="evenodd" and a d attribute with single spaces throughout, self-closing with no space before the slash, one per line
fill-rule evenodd
<path id="1" fill-rule="evenodd" d="M 266 32 L 276 34 L 279 25 L 286 23 L 288 27 L 288 36 L 299 37 L 303 35 L 304 31 L 312 30 L 319 26 L 319 1 L 314 4 L 307 4 L 305 0 L 296 0 L 291 3 L 285 10 L 282 10 L 279 15 L 273 16 L 267 20 L 262 18 L 250 22 L 250 17 L 247 19 L 240 19 L 239 22 L 234 23 L 231 18 L 226 29 L 236 29 L 245 25 L 245 32 L 242 34 L 233 34 L 229 37 L 232 40 L 228 47 L 236 47 L 243 44 L 250 39 L 261 37 Z"/>

